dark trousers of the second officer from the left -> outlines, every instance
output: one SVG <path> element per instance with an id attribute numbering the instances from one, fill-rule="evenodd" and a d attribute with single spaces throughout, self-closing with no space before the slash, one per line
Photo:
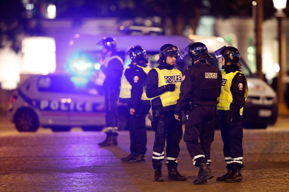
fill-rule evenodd
<path id="1" fill-rule="evenodd" d="M 129 137 L 130 152 L 144 155 L 146 152 L 146 127 L 145 116 L 150 110 L 150 105 L 138 105 L 134 115 L 130 115 Z"/>

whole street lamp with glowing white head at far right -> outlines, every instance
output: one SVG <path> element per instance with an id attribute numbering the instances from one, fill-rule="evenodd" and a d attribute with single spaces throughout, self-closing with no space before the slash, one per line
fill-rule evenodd
<path id="1" fill-rule="evenodd" d="M 283 55 L 282 55 L 282 18 L 286 17 L 286 14 L 283 12 L 283 9 L 286 8 L 287 0 L 273 0 L 274 8 L 277 10 L 275 17 L 278 19 L 278 41 L 279 41 L 279 75 L 278 75 L 278 104 L 279 107 L 284 105 L 284 92 L 283 92 L 283 82 L 282 82 L 282 73 L 284 70 L 283 66 Z"/>

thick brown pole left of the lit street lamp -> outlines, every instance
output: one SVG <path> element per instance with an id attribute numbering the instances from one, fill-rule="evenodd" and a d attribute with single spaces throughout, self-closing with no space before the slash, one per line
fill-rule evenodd
<path id="1" fill-rule="evenodd" d="M 255 18 L 255 46 L 256 46 L 256 70 L 260 79 L 264 79 L 262 73 L 262 23 L 263 23 L 263 0 L 256 0 Z"/>

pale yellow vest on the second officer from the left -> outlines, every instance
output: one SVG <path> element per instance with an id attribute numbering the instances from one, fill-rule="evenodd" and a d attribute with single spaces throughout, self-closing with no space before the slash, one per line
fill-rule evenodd
<path id="1" fill-rule="evenodd" d="M 149 73 L 149 71 L 151 70 L 151 68 L 149 66 L 146 66 L 146 67 L 142 67 L 140 65 L 136 65 L 138 66 L 139 68 L 141 68 L 146 74 Z M 129 69 L 130 67 L 126 67 L 124 70 L 123 70 L 123 75 L 122 75 L 122 78 L 121 78 L 121 87 L 120 87 L 120 93 L 119 93 L 119 98 L 120 98 L 120 102 L 123 100 L 123 101 L 127 101 L 129 102 L 128 100 L 131 98 L 131 89 L 132 89 L 132 86 L 130 85 L 130 83 L 128 82 L 127 78 L 125 77 L 124 73 L 125 73 L 125 70 Z M 141 95 L 141 100 L 150 100 L 146 94 L 145 94 L 145 91 L 143 91 L 142 95 Z M 125 102 L 125 103 L 127 103 Z"/>

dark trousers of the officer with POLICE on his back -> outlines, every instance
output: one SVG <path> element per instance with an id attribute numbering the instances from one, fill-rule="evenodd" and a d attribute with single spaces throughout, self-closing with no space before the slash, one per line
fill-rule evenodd
<path id="1" fill-rule="evenodd" d="M 184 141 L 195 166 L 210 165 L 211 143 L 215 134 L 215 106 L 195 106 L 188 114 Z M 200 140 L 200 142 L 199 142 Z"/>

